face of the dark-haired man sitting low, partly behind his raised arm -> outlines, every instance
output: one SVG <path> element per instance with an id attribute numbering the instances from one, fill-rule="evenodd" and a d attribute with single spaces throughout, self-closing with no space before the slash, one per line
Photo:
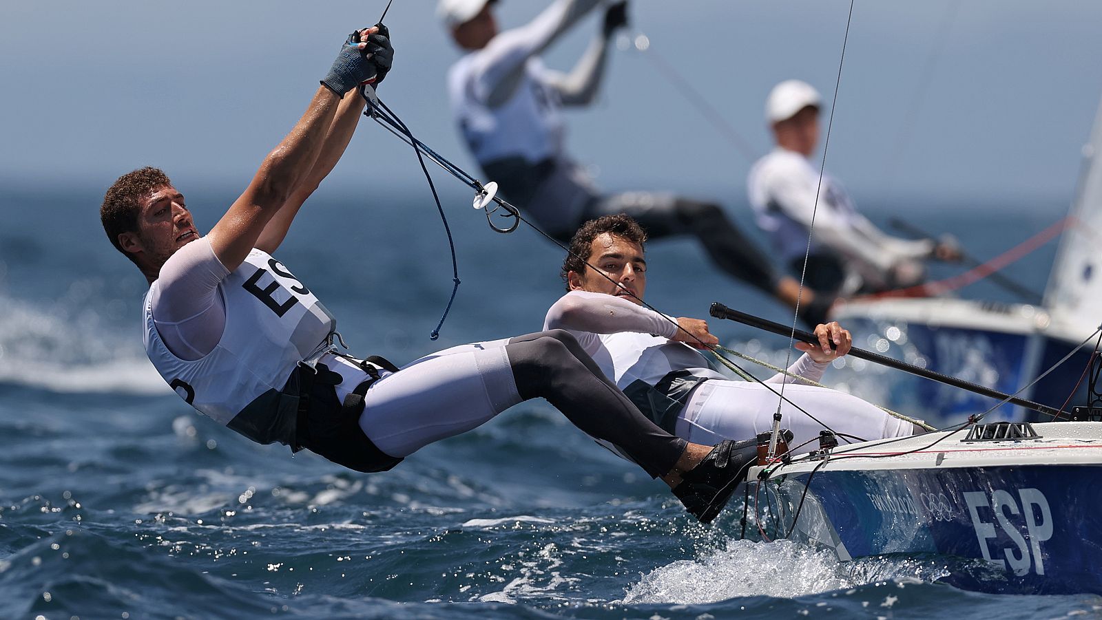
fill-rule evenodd
<path id="1" fill-rule="evenodd" d="M 584 274 L 569 274 L 571 290 L 605 293 L 642 305 L 642 294 L 647 290 L 647 261 L 641 246 L 602 232 L 590 246 L 587 262 L 593 267 L 586 267 Z"/>

